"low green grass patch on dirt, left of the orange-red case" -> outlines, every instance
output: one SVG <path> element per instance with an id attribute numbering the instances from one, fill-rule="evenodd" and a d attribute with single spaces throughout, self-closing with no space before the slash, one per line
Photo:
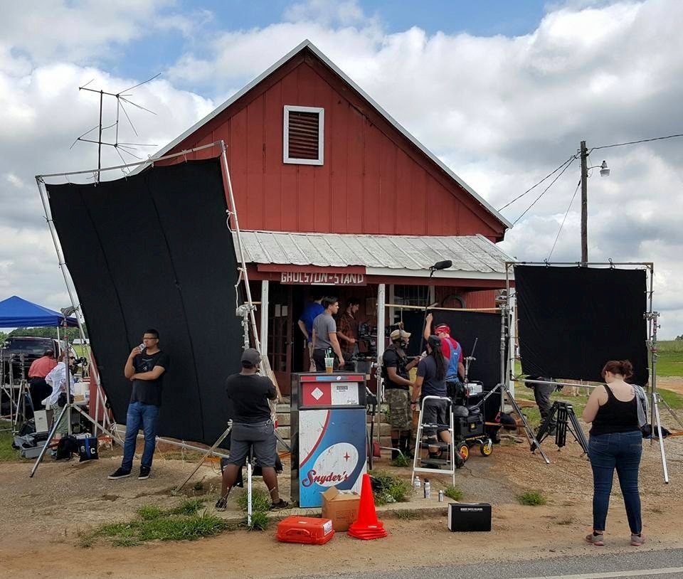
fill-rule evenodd
<path id="1" fill-rule="evenodd" d="M 228 528 L 227 521 L 207 513 L 202 501 L 194 499 L 173 509 L 143 505 L 137 511 L 137 519 L 104 524 L 90 533 L 81 533 L 78 545 L 91 547 L 99 538 L 108 538 L 112 545 L 120 547 L 141 545 L 146 541 L 196 541 Z"/>

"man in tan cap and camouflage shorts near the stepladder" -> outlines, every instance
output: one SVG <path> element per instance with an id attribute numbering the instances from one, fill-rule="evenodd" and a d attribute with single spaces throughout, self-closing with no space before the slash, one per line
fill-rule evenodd
<path id="1" fill-rule="evenodd" d="M 413 413 L 411 412 L 410 388 L 413 383 L 408 378 L 408 371 L 417 366 L 420 356 L 409 361 L 406 355 L 411 334 L 397 329 L 391 332 L 391 345 L 382 354 L 382 378 L 384 378 L 384 396 L 389 405 L 389 423 L 391 425 L 391 458 L 398 458 L 398 451 L 403 455 L 411 452 L 411 430 Z"/>

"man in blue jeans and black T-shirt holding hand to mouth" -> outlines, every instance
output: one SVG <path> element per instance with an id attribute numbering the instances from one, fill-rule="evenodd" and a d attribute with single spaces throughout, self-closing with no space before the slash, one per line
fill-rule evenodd
<path id="1" fill-rule="evenodd" d="M 123 461 L 121 467 L 114 474 L 109 475 L 110 480 L 130 476 L 137 432 L 140 427 L 144 432 L 144 452 L 142 452 L 140 474 L 137 478 L 149 479 L 157 439 L 157 417 L 159 407 L 162 405 L 164 373 L 168 368 L 169 355 L 159 349 L 159 332 L 154 329 L 145 331 L 142 335 L 142 345 L 134 347 L 123 370 L 126 378 L 133 383 L 133 391 L 126 415 Z"/>

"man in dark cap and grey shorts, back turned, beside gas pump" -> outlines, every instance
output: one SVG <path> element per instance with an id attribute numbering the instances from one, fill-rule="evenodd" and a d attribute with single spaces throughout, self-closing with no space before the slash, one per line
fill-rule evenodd
<path id="1" fill-rule="evenodd" d="M 277 487 L 277 439 L 268 404 L 268 400 L 277 398 L 275 386 L 270 378 L 258 374 L 261 363 L 258 350 L 246 349 L 241 361 L 242 371 L 229 376 L 226 380 L 226 392 L 233 403 L 233 429 L 230 435 L 230 458 L 223 470 L 221 497 L 216 502 L 216 509 L 226 510 L 228 494 L 235 485 L 250 448 L 253 448 L 263 472 L 263 482 L 270 492 L 270 509 L 285 509 L 289 503 L 280 499 Z"/>

